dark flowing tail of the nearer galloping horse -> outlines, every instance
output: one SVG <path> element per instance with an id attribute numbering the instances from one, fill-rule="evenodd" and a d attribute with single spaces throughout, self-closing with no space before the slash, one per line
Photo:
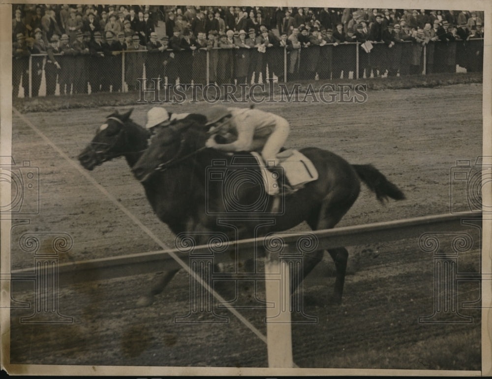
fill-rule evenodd
<path id="1" fill-rule="evenodd" d="M 400 188 L 386 179 L 386 176 L 381 174 L 374 166 L 352 165 L 352 167 L 361 180 L 376 194 L 377 200 L 381 203 L 388 200 L 388 196 L 395 200 L 405 199 L 405 195 L 400 191 Z"/>

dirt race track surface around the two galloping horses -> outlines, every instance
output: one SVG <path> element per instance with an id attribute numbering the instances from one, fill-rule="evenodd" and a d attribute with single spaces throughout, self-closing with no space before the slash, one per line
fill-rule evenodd
<path id="1" fill-rule="evenodd" d="M 482 86 L 380 90 L 364 104 L 264 104 L 291 122 L 291 146 L 329 149 L 352 164 L 371 163 L 407 196 L 381 206 L 363 188 L 338 226 L 398 220 L 450 210 L 450 170 L 457 159 L 482 151 Z M 174 105 L 173 112 L 188 112 Z M 150 106 L 136 107 L 132 118 L 144 124 Z M 204 105 L 195 105 L 199 112 Z M 72 161 L 113 109 L 82 109 L 26 117 Z M 289 146 L 289 147 L 291 147 Z M 86 260 L 157 250 L 158 246 L 121 210 L 64 160 L 21 118 L 13 117 L 12 155 L 17 164 L 31 160 L 40 170 L 40 213 L 29 225 L 12 229 L 12 268 L 31 267 L 32 253 L 21 251 L 26 232 L 65 232 L 74 240 L 64 260 Z M 78 164 L 78 162 L 75 162 Z M 473 162 L 472 162 L 473 163 Z M 105 163 L 91 175 L 140 221 L 172 246 L 173 236 L 154 216 L 143 188 L 123 159 Z M 453 210 L 466 210 L 464 186 L 453 187 Z M 29 200 L 32 201 L 32 200 Z M 296 230 L 307 230 L 300 225 Z M 474 233 L 478 238 L 478 233 Z M 476 271 L 478 242 L 460 257 L 460 271 Z M 450 250 L 443 243 L 443 249 Z M 294 361 L 300 367 L 405 369 L 480 369 L 480 311 L 471 324 L 419 324 L 432 314 L 433 259 L 415 240 L 350 249 L 343 305 L 326 302 L 333 289 L 333 264 L 325 257 L 306 281 L 315 298 L 306 313 L 317 324 L 293 325 Z M 19 324 L 32 310 L 12 311 L 11 362 L 31 364 L 135 366 L 267 366 L 266 345 L 226 310 L 220 325 L 175 324 L 189 309 L 188 276 L 180 272 L 166 293 L 145 310 L 135 299 L 152 275 L 65 288 L 60 311 L 68 325 Z M 244 284 L 245 286 L 250 284 Z M 476 283 L 459 288 L 460 302 L 479 296 Z M 260 297 L 264 288 L 260 286 Z M 32 301 L 32 293 L 17 300 Z M 248 298 L 241 301 L 249 301 Z M 264 310 L 241 310 L 266 333 Z M 298 315 L 294 315 L 296 320 Z M 462 343 L 468 346 L 460 346 Z M 465 352 L 463 352 L 463 350 Z"/>

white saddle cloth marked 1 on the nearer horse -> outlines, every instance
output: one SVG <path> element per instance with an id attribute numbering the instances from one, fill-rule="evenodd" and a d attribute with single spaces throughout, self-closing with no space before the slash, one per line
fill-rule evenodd
<path id="1" fill-rule="evenodd" d="M 318 179 L 318 171 L 312 164 L 312 162 L 298 150 L 287 149 L 277 154 L 277 159 L 280 160 L 280 167 L 283 169 L 284 183 L 279 185 L 279 175 L 274 171 L 270 171 L 266 168 L 265 162 L 262 156 L 255 152 L 250 152 L 255 157 L 261 170 L 263 183 L 265 185 L 265 191 L 269 195 L 277 195 L 280 193 L 296 192 L 303 188 L 307 183 Z"/>

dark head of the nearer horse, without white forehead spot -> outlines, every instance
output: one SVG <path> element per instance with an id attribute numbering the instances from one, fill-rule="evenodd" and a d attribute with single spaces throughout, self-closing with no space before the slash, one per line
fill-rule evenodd
<path id="1" fill-rule="evenodd" d="M 187 117 L 160 130 L 133 166 L 135 177 L 144 182 L 154 172 L 165 171 L 205 148 L 208 135 L 201 121 L 196 117 Z"/>

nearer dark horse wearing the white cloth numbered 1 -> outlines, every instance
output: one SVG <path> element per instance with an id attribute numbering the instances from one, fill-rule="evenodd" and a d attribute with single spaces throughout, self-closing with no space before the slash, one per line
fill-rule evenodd
<path id="1" fill-rule="evenodd" d="M 308 147 L 300 151 L 312 161 L 319 178 L 285 195 L 281 211 L 272 212 L 275 197 L 266 194 L 261 180 L 251 179 L 250 173 L 246 177 L 236 175 L 245 170 L 259 170 L 251 155 L 246 152 L 231 155 L 205 148 L 209 137 L 203 123 L 185 119 L 155 136 L 132 168 L 135 177 L 145 186 L 155 213 L 174 233 L 227 233 L 230 227 L 218 225 L 217 220 L 229 217 L 240 239 L 284 231 L 303 221 L 313 230 L 330 229 L 354 204 L 361 181 L 381 203 L 388 197 L 404 199 L 400 189 L 371 165 L 350 165 L 330 151 Z M 220 172 L 222 174 L 217 175 Z M 228 183 L 227 177 L 230 178 Z M 237 202 L 232 211 L 227 199 Z M 253 205 L 258 208 L 253 209 Z M 238 217 L 237 211 L 241 210 Z M 258 228 L 263 220 L 273 222 Z M 328 252 L 337 268 L 334 294 L 335 301 L 340 302 L 348 252 L 343 247 Z M 303 277 L 321 261 L 323 253 L 320 250 L 304 256 Z M 295 289 L 291 287 L 291 290 Z"/>

